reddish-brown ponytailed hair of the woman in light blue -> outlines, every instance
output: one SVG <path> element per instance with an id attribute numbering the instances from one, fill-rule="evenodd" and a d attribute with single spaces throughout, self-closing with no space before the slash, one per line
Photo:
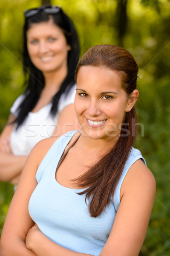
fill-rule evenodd
<path id="1" fill-rule="evenodd" d="M 104 67 L 116 70 L 121 76 L 121 84 L 127 96 L 136 89 L 138 66 L 133 56 L 127 50 L 116 45 L 96 45 L 90 48 L 78 62 L 75 76 L 82 66 Z M 74 179 L 79 187 L 88 187 L 79 195 L 86 194 L 89 201 L 89 212 L 97 217 L 110 204 L 115 187 L 124 169 L 138 132 L 135 107 L 126 112 L 121 134 L 116 145 L 92 166 L 84 175 Z M 127 126 L 128 131 L 127 134 Z"/>

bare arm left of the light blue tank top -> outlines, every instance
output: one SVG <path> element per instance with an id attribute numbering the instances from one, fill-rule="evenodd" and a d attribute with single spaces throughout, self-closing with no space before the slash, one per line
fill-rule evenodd
<path id="1" fill-rule="evenodd" d="M 35 178 L 37 168 L 52 143 L 54 143 L 54 138 L 37 143 L 26 161 L 3 226 L 0 240 L 1 256 L 36 255 L 25 244 L 26 235 L 34 226 L 34 222 L 29 216 L 28 204 L 29 198 L 37 186 Z"/>

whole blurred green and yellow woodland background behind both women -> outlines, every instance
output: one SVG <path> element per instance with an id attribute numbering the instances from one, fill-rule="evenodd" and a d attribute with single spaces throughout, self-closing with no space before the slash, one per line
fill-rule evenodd
<path id="1" fill-rule="evenodd" d="M 140 149 L 157 193 L 140 256 L 170 255 L 170 0 L 0 0 L 0 132 L 23 92 L 23 10 L 62 6 L 79 34 L 81 55 L 96 44 L 129 50 L 139 67 L 136 104 Z M 13 195 L 0 182 L 0 233 Z"/>

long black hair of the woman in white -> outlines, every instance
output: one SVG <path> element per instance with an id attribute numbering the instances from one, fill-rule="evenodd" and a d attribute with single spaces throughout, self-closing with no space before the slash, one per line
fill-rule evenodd
<path id="1" fill-rule="evenodd" d="M 52 99 L 51 114 L 53 116 L 58 111 L 58 102 L 62 93 L 68 93 L 70 88 L 75 84 L 74 74 L 78 63 L 80 47 L 75 26 L 70 18 L 63 12 L 62 9 L 57 14 L 53 15 L 48 15 L 42 10 L 36 15 L 26 18 L 23 27 L 23 71 L 25 75 L 24 84 L 26 85 L 26 90 L 25 98 L 18 107 L 18 115 L 14 121 L 17 123 L 17 128 L 23 123 L 28 113 L 35 107 L 38 99 L 40 98 L 40 93 L 45 85 L 43 73 L 35 67 L 29 58 L 26 32 L 33 23 L 49 21 L 50 18 L 52 18 L 54 23 L 63 30 L 67 44 L 71 46 L 71 50 L 68 52 L 67 58 L 67 76 L 62 82 L 60 90 Z"/>

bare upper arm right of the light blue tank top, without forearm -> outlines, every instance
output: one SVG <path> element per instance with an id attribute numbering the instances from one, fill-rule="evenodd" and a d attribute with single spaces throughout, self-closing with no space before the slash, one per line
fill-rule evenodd
<path id="1" fill-rule="evenodd" d="M 155 194 L 153 174 L 141 160 L 137 160 L 122 183 L 121 203 L 100 256 L 138 256 L 146 236 Z"/>

